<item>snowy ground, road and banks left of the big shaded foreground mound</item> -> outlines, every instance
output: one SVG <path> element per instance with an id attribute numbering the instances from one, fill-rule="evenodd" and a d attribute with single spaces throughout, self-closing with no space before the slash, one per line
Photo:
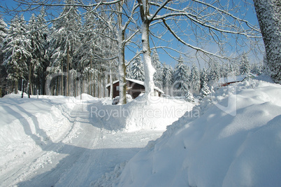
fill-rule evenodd
<path id="1" fill-rule="evenodd" d="M 7 95 L 0 99 L 1 186 L 94 186 L 116 165 L 124 167 L 193 106 L 168 99 L 160 102 L 112 106 L 89 95 L 82 95 L 82 100 Z M 163 114 L 173 106 L 180 109 L 178 116 Z M 141 109 L 147 113 L 139 113 Z M 157 109 L 166 122 L 150 116 L 150 109 Z M 129 115 L 115 116 L 117 111 Z M 108 176 L 109 181 L 117 179 L 115 175 Z"/>

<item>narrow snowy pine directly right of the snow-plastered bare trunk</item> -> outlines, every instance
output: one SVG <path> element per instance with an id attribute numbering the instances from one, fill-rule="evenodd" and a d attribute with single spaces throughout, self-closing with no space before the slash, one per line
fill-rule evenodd
<path id="1" fill-rule="evenodd" d="M 161 88 L 161 86 L 163 84 L 162 83 L 163 71 L 161 69 L 161 62 L 159 60 L 159 55 L 157 53 L 157 50 L 153 50 L 151 60 L 152 60 L 152 66 L 155 69 L 155 73 L 153 76 L 154 84 L 158 88 Z"/>

